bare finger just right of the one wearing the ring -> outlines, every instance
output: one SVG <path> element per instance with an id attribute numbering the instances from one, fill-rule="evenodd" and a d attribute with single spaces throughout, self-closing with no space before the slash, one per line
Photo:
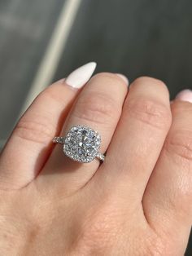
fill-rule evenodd
<path id="1" fill-rule="evenodd" d="M 131 193 L 134 202 L 141 202 L 170 124 L 167 87 L 150 77 L 138 78 L 129 88 L 106 161 L 94 183 L 108 191 L 116 188 L 125 198 Z"/>

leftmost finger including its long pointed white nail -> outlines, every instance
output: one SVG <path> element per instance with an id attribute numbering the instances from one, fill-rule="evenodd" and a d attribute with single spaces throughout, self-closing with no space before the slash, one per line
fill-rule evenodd
<path id="1" fill-rule="evenodd" d="M 64 81 L 41 92 L 16 125 L 0 158 L 0 189 L 24 187 L 39 173 L 52 149 L 52 138 L 61 127 L 78 94 L 94 72 L 85 64 Z"/>

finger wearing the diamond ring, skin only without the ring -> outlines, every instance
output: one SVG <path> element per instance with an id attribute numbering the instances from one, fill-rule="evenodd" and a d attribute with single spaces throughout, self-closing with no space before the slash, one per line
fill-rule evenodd
<path id="1" fill-rule="evenodd" d="M 62 135 L 66 135 L 72 126 L 89 126 L 98 130 L 102 138 L 100 152 L 105 152 L 119 121 L 127 90 L 126 82 L 117 74 L 100 73 L 92 77 L 69 113 Z M 46 188 L 60 186 L 62 192 L 72 192 L 84 186 L 98 166 L 97 159 L 84 164 L 72 161 L 57 145 L 38 181 Z"/>

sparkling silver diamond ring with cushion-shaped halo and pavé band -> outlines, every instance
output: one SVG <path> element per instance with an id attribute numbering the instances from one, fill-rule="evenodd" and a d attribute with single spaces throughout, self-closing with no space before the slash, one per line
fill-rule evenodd
<path id="1" fill-rule="evenodd" d="M 55 137 L 54 143 L 63 144 L 63 152 L 74 161 L 88 163 L 98 158 L 104 161 L 105 156 L 98 150 L 101 145 L 101 136 L 98 131 L 87 126 L 72 126 L 64 137 Z"/>

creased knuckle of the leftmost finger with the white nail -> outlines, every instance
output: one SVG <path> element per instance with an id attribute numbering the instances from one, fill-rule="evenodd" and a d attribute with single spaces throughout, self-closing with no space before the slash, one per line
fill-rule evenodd
<path id="1" fill-rule="evenodd" d="M 39 118 L 41 121 L 34 120 L 21 118 L 15 127 L 14 135 L 28 141 L 47 144 L 55 135 L 55 127 L 52 127 L 46 118 Z"/>

